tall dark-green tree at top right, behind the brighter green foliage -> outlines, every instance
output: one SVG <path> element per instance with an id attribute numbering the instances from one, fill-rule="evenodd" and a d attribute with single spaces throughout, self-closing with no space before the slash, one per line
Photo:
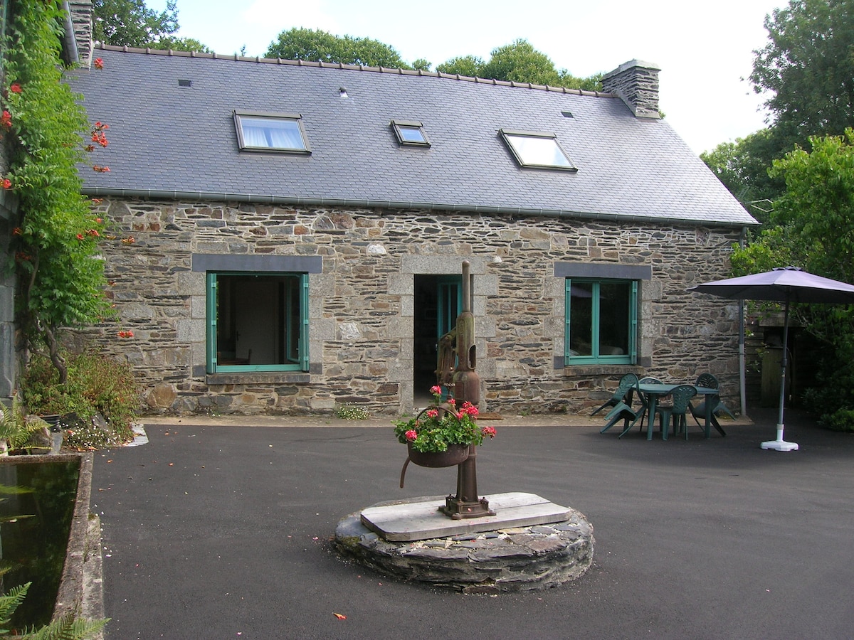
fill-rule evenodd
<path id="1" fill-rule="evenodd" d="M 854 126 L 854 0 L 790 0 L 767 15 L 768 44 L 754 51 L 750 80 L 765 93 L 767 129 L 722 143 L 701 158 L 760 221 L 763 201 L 786 190 L 774 160 L 809 146 L 810 136 L 841 136 Z"/>

